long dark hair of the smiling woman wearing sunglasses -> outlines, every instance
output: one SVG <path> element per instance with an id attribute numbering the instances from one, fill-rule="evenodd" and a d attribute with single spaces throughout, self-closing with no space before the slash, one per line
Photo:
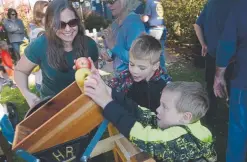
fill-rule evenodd
<path id="1" fill-rule="evenodd" d="M 48 39 L 47 59 L 48 64 L 59 71 L 68 71 L 68 64 L 64 55 L 63 41 L 56 35 L 56 31 L 60 29 L 60 13 L 64 9 L 74 12 L 78 19 L 78 33 L 73 41 L 74 59 L 79 57 L 87 57 L 87 37 L 84 35 L 84 28 L 80 17 L 68 0 L 53 0 L 49 3 L 45 15 L 45 31 Z"/>

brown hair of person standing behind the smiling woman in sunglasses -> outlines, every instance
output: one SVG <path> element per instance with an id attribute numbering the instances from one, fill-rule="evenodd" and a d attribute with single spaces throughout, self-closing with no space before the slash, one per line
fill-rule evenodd
<path id="1" fill-rule="evenodd" d="M 45 17 L 43 10 L 47 7 L 49 2 L 47 1 L 37 1 L 33 7 L 33 23 L 37 26 L 42 25 L 42 19 Z"/>

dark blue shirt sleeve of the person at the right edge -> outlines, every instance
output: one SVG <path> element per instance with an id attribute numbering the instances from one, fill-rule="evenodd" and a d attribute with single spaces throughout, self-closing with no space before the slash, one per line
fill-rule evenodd
<path id="1" fill-rule="evenodd" d="M 236 53 L 237 48 L 237 23 L 231 12 L 226 20 L 225 28 L 219 40 L 216 52 L 216 65 L 226 67 Z"/>

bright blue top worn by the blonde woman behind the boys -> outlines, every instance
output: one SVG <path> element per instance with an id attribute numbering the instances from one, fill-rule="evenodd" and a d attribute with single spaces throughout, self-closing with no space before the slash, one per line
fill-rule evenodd
<path id="1" fill-rule="evenodd" d="M 134 12 L 129 14 L 120 26 L 113 23 L 112 28 L 116 35 L 116 44 L 111 49 L 113 66 L 115 73 L 119 73 L 129 67 L 129 50 L 132 42 L 146 31 L 140 16 Z"/>

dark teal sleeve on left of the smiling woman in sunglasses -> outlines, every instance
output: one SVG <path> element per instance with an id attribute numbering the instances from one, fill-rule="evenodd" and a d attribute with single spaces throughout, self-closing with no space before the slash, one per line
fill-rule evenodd
<path id="1" fill-rule="evenodd" d="M 44 54 L 43 52 L 45 50 L 44 44 L 44 36 L 40 36 L 32 41 L 24 51 L 28 60 L 39 65 L 41 62 L 41 55 Z"/>

